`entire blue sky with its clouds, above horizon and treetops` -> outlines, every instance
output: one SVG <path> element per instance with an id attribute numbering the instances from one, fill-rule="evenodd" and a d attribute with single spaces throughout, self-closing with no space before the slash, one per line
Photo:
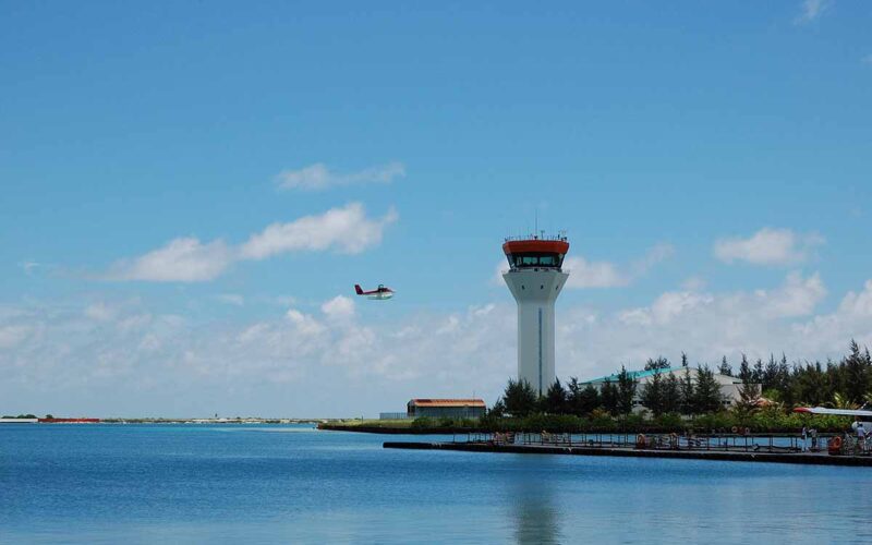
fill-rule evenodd
<path id="1" fill-rule="evenodd" d="M 0 412 L 493 401 L 536 217 L 560 376 L 872 343 L 862 2 L 0 12 Z"/>

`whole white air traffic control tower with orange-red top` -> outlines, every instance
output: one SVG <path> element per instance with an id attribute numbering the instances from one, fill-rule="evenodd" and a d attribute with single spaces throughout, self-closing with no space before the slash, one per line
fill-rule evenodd
<path id="1" fill-rule="evenodd" d="M 502 278 L 518 302 L 518 380 L 530 383 L 540 396 L 554 384 L 554 302 L 569 278 L 561 268 L 568 251 L 562 235 L 506 239 L 502 244 L 510 267 Z"/>

